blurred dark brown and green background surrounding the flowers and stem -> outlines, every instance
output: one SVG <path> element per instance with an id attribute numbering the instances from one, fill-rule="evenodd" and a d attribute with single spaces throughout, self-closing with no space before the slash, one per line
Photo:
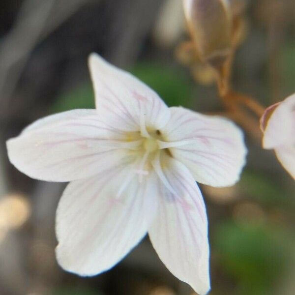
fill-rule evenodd
<path id="1" fill-rule="evenodd" d="M 295 1 L 246 2 L 233 85 L 268 106 L 295 92 Z M 65 184 L 21 174 L 5 148 L 37 118 L 94 108 L 91 52 L 131 71 L 169 106 L 221 112 L 210 74 L 177 58 L 186 39 L 180 0 L 0 1 L 0 295 L 195 295 L 148 238 L 104 274 L 64 272 L 55 260 L 54 222 Z M 236 186 L 201 186 L 210 294 L 294 295 L 294 180 L 260 140 L 246 133 L 246 142 L 248 163 Z"/>

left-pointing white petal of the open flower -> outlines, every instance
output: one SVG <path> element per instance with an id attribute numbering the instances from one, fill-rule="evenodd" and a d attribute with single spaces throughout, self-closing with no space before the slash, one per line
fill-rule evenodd
<path id="1" fill-rule="evenodd" d="M 39 119 L 7 141 L 10 162 L 29 177 L 70 181 L 129 161 L 96 110 L 74 110 Z M 131 159 L 130 159 L 131 160 Z"/>

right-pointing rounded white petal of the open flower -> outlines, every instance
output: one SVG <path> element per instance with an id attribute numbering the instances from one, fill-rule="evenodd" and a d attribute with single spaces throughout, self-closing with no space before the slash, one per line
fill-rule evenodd
<path id="1" fill-rule="evenodd" d="M 180 143 L 170 152 L 196 181 L 222 187 L 239 179 L 246 148 L 242 132 L 228 119 L 171 108 L 170 121 L 161 132 L 165 141 Z M 181 141 L 186 144 L 181 146 Z"/>

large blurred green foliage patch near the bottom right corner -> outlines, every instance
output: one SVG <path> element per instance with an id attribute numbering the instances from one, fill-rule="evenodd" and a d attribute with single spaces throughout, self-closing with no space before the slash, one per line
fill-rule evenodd
<path id="1" fill-rule="evenodd" d="M 236 279 L 239 295 L 265 295 L 286 270 L 292 243 L 283 231 L 257 226 L 220 224 L 213 235 L 213 248 L 223 269 Z"/>

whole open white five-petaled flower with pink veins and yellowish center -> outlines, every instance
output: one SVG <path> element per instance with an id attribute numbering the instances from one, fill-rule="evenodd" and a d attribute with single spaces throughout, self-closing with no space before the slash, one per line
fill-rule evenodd
<path id="1" fill-rule="evenodd" d="M 98 55 L 89 67 L 96 110 L 37 120 L 7 142 L 11 163 L 29 177 L 71 181 L 57 209 L 59 265 L 101 273 L 148 232 L 167 268 L 206 294 L 207 214 L 195 180 L 218 187 L 238 180 L 241 131 L 225 118 L 168 108 Z"/>

